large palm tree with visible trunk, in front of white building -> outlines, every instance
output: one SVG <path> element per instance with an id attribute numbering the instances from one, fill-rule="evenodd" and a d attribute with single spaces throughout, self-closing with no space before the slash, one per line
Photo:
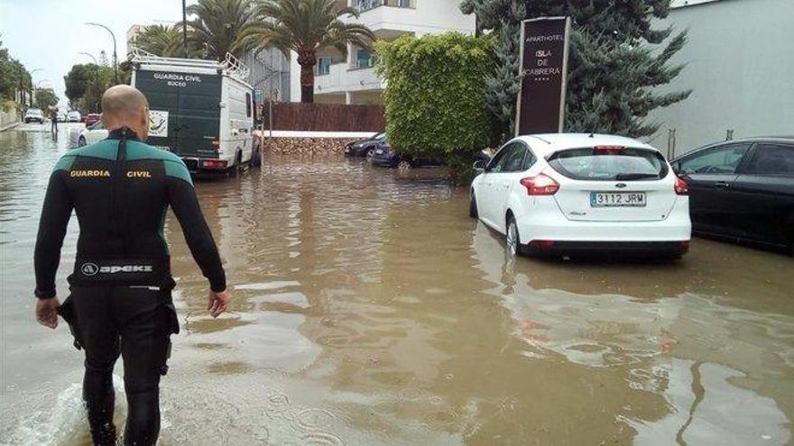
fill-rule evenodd
<path id="1" fill-rule="evenodd" d="M 369 48 L 375 39 L 365 25 L 340 20 L 344 15 L 358 18 L 358 11 L 338 0 L 260 0 L 255 19 L 245 26 L 238 47 L 274 47 L 288 58 L 290 51 L 295 51 L 300 65 L 300 102 L 313 103 L 318 51 L 333 47 L 346 56 L 348 44 Z"/>

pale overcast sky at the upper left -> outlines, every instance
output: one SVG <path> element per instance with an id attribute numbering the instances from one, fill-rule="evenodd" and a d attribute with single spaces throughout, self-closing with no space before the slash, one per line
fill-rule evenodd
<path id="1" fill-rule="evenodd" d="M 196 3 L 188 0 L 188 5 Z M 51 86 L 66 105 L 63 77 L 77 63 L 99 59 L 105 50 L 113 57 L 113 40 L 103 23 L 115 33 L 118 59 L 126 58 L 126 32 L 134 24 L 177 22 L 181 0 L 0 0 L 0 40 L 11 56 L 33 73 L 33 85 Z M 43 81 L 43 82 L 42 82 Z"/>

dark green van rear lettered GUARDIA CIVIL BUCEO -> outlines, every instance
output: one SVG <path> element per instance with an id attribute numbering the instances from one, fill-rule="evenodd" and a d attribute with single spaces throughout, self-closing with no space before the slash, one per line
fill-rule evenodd
<path id="1" fill-rule="evenodd" d="M 149 100 L 152 145 L 182 158 L 217 159 L 221 79 L 217 74 L 139 69 L 135 86 Z"/>

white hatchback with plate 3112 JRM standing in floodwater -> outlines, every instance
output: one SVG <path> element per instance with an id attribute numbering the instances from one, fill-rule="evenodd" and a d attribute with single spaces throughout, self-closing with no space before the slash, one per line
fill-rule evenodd
<path id="1" fill-rule="evenodd" d="M 479 162 L 479 161 L 478 161 Z M 471 187 L 469 214 L 520 254 L 687 252 L 687 183 L 659 150 L 622 136 L 556 133 L 504 144 Z"/>

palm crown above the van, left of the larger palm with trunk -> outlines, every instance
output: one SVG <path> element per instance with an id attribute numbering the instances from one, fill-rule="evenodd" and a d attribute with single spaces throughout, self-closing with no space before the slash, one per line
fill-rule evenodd
<path id="1" fill-rule="evenodd" d="M 205 57 L 223 60 L 226 52 L 239 56 L 245 50 L 238 42 L 254 16 L 250 0 L 199 0 L 187 14 L 195 15 L 188 21 L 188 43 L 203 49 Z"/>

